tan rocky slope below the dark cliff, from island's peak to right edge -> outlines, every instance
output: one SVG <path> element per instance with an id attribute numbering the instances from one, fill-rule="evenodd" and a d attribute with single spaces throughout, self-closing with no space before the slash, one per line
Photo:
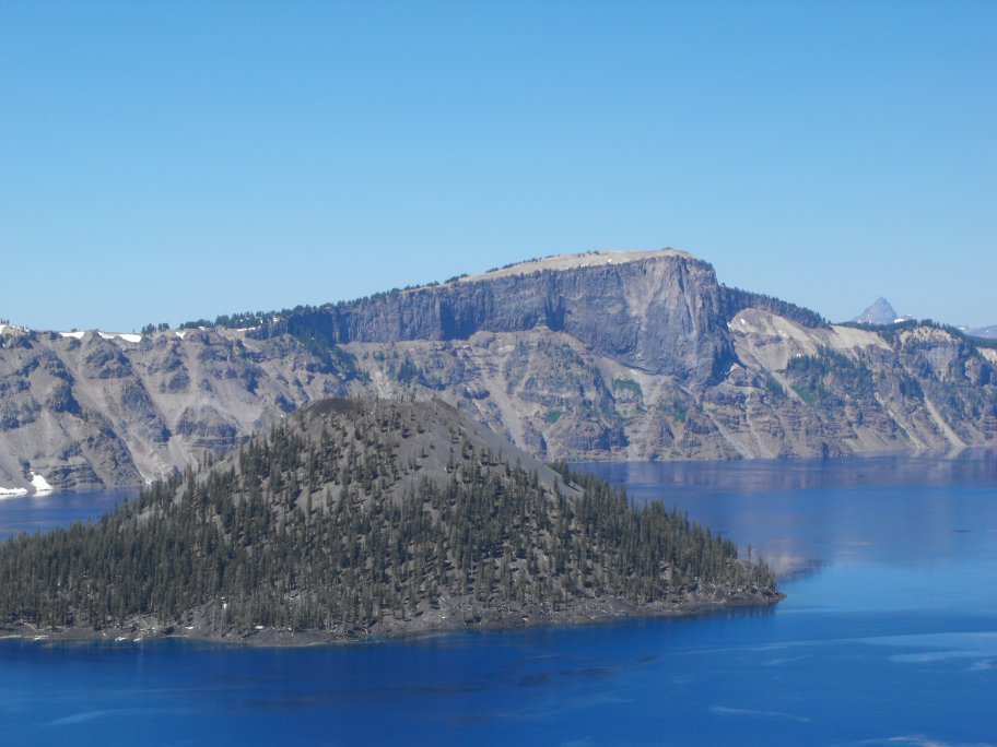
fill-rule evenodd
<path id="1" fill-rule="evenodd" d="M 348 348 L 382 395 L 436 392 L 550 456 L 840 456 L 997 440 L 994 351 L 948 331 L 887 339 L 746 309 L 729 334 L 737 361 L 712 386 L 548 331 Z"/>

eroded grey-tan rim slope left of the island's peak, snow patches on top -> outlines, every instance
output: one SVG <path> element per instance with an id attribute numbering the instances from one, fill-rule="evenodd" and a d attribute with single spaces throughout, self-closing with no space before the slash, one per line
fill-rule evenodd
<path id="1" fill-rule="evenodd" d="M 309 400 L 344 393 L 347 378 L 293 339 L 7 335 L 0 487 L 25 486 L 30 472 L 61 488 L 160 478 Z"/>

